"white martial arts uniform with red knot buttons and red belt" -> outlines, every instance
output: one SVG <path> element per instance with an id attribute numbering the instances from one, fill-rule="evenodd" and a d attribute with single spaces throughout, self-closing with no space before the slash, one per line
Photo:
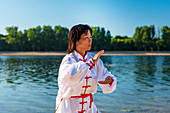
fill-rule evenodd
<path id="1" fill-rule="evenodd" d="M 92 96 L 97 92 L 97 83 L 111 76 L 114 79 L 112 84 L 99 84 L 103 93 L 111 93 L 116 89 L 117 79 L 108 72 L 101 59 L 94 65 L 94 55 L 86 52 L 83 57 L 74 50 L 63 58 L 55 113 L 100 113 Z"/>

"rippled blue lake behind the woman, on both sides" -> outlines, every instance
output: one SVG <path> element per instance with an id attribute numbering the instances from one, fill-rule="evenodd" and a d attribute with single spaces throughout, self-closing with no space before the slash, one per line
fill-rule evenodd
<path id="1" fill-rule="evenodd" d="M 54 113 L 63 56 L 0 56 L 0 113 Z M 101 56 L 118 79 L 110 94 L 100 87 L 102 113 L 170 112 L 170 56 Z"/>

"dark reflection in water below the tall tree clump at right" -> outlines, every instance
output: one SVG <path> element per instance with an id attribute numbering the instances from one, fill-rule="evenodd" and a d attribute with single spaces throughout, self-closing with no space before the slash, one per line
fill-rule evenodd
<path id="1" fill-rule="evenodd" d="M 141 56 L 136 57 L 134 65 L 134 73 L 136 74 L 136 82 L 139 82 L 141 87 L 138 87 L 137 90 L 141 92 L 154 92 L 152 88 L 142 87 L 154 87 L 155 81 L 155 72 L 157 70 L 156 58 L 150 56 Z"/>

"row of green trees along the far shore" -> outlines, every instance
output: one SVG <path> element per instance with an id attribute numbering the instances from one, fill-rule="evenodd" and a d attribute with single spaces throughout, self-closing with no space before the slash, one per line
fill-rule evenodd
<path id="1" fill-rule="evenodd" d="M 92 51 L 169 51 L 170 27 L 163 26 L 155 35 L 155 26 L 136 27 L 133 37 L 111 36 L 103 27 L 91 27 Z M 7 35 L 0 34 L 0 51 L 66 51 L 69 29 L 60 25 L 44 25 L 18 31 L 6 27 Z"/>

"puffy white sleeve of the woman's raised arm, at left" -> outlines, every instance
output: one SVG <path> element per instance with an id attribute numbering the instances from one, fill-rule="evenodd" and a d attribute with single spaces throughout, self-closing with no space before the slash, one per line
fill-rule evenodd
<path id="1" fill-rule="evenodd" d="M 74 58 L 66 57 L 60 65 L 58 80 L 65 86 L 73 86 L 91 73 L 89 68 L 83 61 L 77 62 Z"/>

